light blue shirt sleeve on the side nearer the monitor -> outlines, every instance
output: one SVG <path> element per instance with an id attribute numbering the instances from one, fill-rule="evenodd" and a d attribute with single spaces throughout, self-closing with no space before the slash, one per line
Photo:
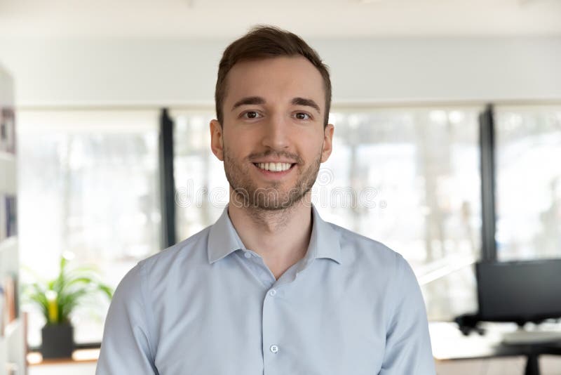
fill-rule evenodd
<path id="1" fill-rule="evenodd" d="M 410 265 L 398 254 L 395 301 L 388 317 L 386 351 L 379 375 L 434 375 L 435 364 L 428 320 L 419 283 Z"/>

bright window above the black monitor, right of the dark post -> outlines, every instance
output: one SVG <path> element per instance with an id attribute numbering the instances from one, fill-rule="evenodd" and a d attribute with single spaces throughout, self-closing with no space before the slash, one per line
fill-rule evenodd
<path id="1" fill-rule="evenodd" d="M 561 107 L 496 107 L 500 261 L 561 257 Z"/>

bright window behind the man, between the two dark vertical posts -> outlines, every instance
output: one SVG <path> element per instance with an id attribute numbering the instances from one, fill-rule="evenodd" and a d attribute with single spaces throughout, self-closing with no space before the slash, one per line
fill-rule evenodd
<path id="1" fill-rule="evenodd" d="M 410 262 L 432 320 L 477 310 L 480 107 L 339 111 L 334 152 L 312 202 L 327 221 L 387 244 Z M 178 239 L 212 224 L 229 185 L 210 152 L 213 115 L 175 111 Z"/>

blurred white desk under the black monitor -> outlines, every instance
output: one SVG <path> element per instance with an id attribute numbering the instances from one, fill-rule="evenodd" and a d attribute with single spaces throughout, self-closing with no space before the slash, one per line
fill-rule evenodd
<path id="1" fill-rule="evenodd" d="M 501 343 L 506 332 L 515 331 L 515 324 L 483 324 L 485 335 L 472 332 L 461 334 L 457 325 L 449 322 L 431 322 L 431 342 L 435 360 L 475 360 L 494 357 L 527 357 L 525 375 L 539 375 L 539 355 L 561 355 L 561 341 L 505 345 Z M 555 326 L 555 329 L 560 329 Z"/>

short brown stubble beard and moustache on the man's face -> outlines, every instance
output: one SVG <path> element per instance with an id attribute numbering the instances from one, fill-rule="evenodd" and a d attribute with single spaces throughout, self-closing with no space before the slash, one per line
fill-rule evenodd
<path id="1" fill-rule="evenodd" d="M 269 186 L 259 187 L 251 180 L 250 162 L 240 164 L 231 157 L 227 147 L 224 147 L 224 171 L 226 178 L 234 191 L 230 204 L 250 209 L 250 211 L 279 211 L 290 209 L 302 202 L 311 187 L 316 182 L 321 164 L 321 153 L 310 166 L 299 172 L 294 186 L 288 191 L 280 190 L 282 183 L 272 182 Z M 279 154 L 269 152 L 268 154 Z M 264 154 L 267 156 L 268 154 Z M 280 153 L 282 154 L 282 153 Z M 297 164 L 297 166 L 302 164 Z M 309 203 L 309 202 L 308 202 Z"/>

